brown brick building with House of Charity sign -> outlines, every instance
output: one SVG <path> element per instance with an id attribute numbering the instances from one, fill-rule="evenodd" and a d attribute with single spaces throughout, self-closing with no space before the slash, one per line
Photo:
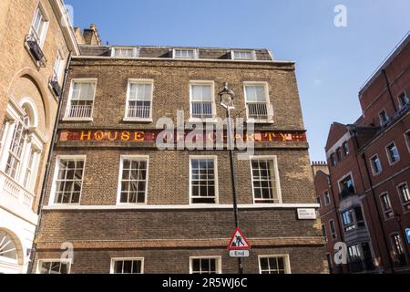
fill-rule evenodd
<path id="1" fill-rule="evenodd" d="M 266 49 L 108 47 L 96 37 L 71 63 L 33 272 L 236 273 L 229 151 L 156 143 L 157 121 L 177 123 L 177 110 L 182 138 L 225 118 L 224 82 L 232 114 L 255 127 L 254 154 L 239 160 L 236 150 L 234 161 L 252 245 L 244 272 L 327 271 L 320 221 L 298 216 L 319 205 L 294 63 Z M 65 243 L 74 253 L 62 260 Z"/>

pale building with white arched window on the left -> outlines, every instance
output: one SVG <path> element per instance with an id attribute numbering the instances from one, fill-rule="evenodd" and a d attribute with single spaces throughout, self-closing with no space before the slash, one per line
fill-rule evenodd
<path id="1" fill-rule="evenodd" d="M 0 1 L 0 274 L 26 273 L 70 52 L 61 0 Z"/>

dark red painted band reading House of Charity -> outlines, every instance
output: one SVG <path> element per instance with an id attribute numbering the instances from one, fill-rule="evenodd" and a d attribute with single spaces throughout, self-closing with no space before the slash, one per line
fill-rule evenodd
<path id="1" fill-rule="evenodd" d="M 155 142 L 162 130 L 61 130 L 59 141 L 127 141 L 127 142 Z M 191 131 L 170 133 L 168 141 L 185 141 Z M 200 133 L 192 141 L 220 141 L 216 131 Z M 226 133 L 223 141 L 226 141 Z M 236 134 L 236 141 L 254 142 L 305 142 L 306 133 L 303 131 L 255 131 L 252 134 Z"/>

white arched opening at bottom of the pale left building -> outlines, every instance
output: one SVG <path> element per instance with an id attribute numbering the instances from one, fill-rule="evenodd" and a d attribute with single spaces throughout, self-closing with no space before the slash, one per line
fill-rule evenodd
<path id="1" fill-rule="evenodd" d="M 0 229 L 0 274 L 19 274 L 23 261 L 21 245 L 15 235 Z"/>

